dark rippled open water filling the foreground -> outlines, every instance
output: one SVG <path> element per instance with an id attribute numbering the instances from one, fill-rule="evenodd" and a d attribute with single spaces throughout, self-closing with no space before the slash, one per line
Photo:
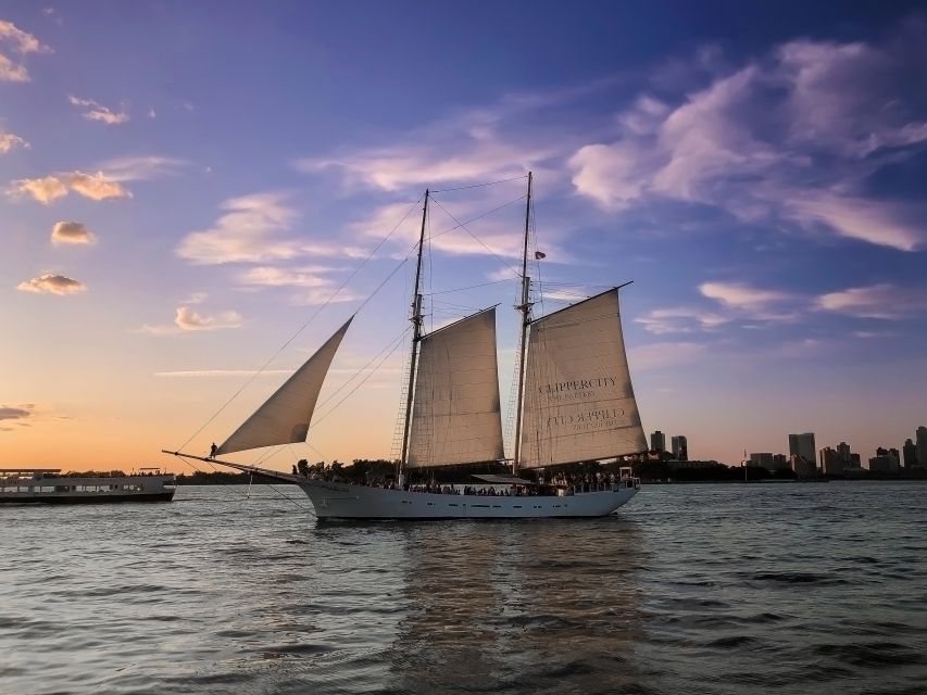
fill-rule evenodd
<path id="1" fill-rule="evenodd" d="M 927 693 L 924 483 L 514 522 L 243 492 L 0 507 L 0 693 Z"/>

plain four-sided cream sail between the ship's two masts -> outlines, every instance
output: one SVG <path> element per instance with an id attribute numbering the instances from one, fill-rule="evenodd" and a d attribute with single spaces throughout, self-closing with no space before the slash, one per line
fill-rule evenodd
<path id="1" fill-rule="evenodd" d="M 502 457 L 492 307 L 422 338 L 406 466 Z"/>

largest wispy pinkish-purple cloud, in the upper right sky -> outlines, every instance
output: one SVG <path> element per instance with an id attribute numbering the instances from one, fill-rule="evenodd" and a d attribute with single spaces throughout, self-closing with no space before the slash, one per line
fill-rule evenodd
<path id="1" fill-rule="evenodd" d="M 907 27 L 927 40 L 927 25 Z M 576 191 L 603 210 L 673 200 L 747 222 L 900 251 L 927 245 L 917 200 L 876 194 L 869 177 L 927 143 L 906 81 L 912 41 L 782 43 L 680 99 L 642 94 L 611 140 L 568 161 Z"/>

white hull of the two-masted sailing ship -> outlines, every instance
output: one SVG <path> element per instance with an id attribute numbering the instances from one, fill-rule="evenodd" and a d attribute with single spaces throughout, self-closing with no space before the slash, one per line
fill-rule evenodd
<path id="1" fill-rule="evenodd" d="M 634 484 L 556 495 L 431 494 L 324 480 L 299 481 L 320 519 L 539 519 L 607 516 L 637 494 Z"/>

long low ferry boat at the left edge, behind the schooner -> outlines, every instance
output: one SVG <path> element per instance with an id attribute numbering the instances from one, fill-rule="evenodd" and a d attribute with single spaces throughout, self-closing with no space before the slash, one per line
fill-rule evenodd
<path id="1" fill-rule="evenodd" d="M 176 486 L 174 473 L 160 468 L 64 476 L 60 468 L 0 468 L 0 503 L 171 502 Z"/>

